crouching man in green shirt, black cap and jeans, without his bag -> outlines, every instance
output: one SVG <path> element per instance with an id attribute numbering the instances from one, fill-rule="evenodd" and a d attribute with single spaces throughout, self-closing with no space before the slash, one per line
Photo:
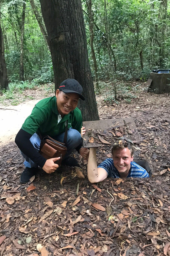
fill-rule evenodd
<path id="1" fill-rule="evenodd" d="M 65 121 L 68 120 L 67 154 L 62 161 L 63 165 L 77 166 L 78 162 L 69 155 L 76 149 L 80 155 L 87 159 L 89 150 L 82 147 L 81 127 L 82 116 L 77 108 L 79 98 L 82 96 L 82 87 L 75 80 L 64 80 L 56 91 L 56 96 L 40 100 L 26 118 L 22 128 L 18 132 L 15 142 L 25 158 L 25 170 L 20 181 L 27 183 L 38 171 L 38 166 L 46 173 L 53 173 L 59 165 L 55 162 L 59 158 L 46 160 L 40 153 L 40 135 L 49 135 L 53 139 L 63 142 L 65 133 Z M 56 100 L 57 98 L 57 100 Z"/>

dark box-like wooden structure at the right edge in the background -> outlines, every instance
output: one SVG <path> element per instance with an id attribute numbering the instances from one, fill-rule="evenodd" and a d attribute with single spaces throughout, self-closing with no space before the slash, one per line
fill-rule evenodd
<path id="1" fill-rule="evenodd" d="M 150 73 L 150 79 L 152 83 L 150 85 L 149 91 L 161 94 L 161 93 L 170 93 L 170 73 Z"/>

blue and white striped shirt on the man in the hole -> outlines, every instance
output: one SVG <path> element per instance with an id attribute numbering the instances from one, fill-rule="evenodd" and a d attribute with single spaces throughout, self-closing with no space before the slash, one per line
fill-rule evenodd
<path id="1" fill-rule="evenodd" d="M 108 173 L 108 177 L 120 178 L 119 172 L 114 166 L 113 159 L 108 158 L 99 164 L 98 168 L 103 168 Z M 135 162 L 130 162 L 130 170 L 127 178 L 147 178 L 149 174 L 147 171 Z"/>

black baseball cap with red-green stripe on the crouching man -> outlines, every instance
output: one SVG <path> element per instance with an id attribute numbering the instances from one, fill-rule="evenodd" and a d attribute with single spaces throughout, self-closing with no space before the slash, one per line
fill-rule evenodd
<path id="1" fill-rule="evenodd" d="M 59 90 L 63 93 L 77 93 L 80 96 L 80 99 L 85 100 L 82 96 L 83 88 L 79 82 L 72 78 L 67 78 L 59 85 Z"/>

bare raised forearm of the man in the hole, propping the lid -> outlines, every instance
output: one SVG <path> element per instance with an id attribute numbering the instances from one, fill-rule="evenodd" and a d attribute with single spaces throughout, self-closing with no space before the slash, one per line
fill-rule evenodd
<path id="1" fill-rule="evenodd" d="M 87 164 L 88 179 L 91 183 L 98 182 L 96 148 L 90 148 L 89 160 Z"/>

